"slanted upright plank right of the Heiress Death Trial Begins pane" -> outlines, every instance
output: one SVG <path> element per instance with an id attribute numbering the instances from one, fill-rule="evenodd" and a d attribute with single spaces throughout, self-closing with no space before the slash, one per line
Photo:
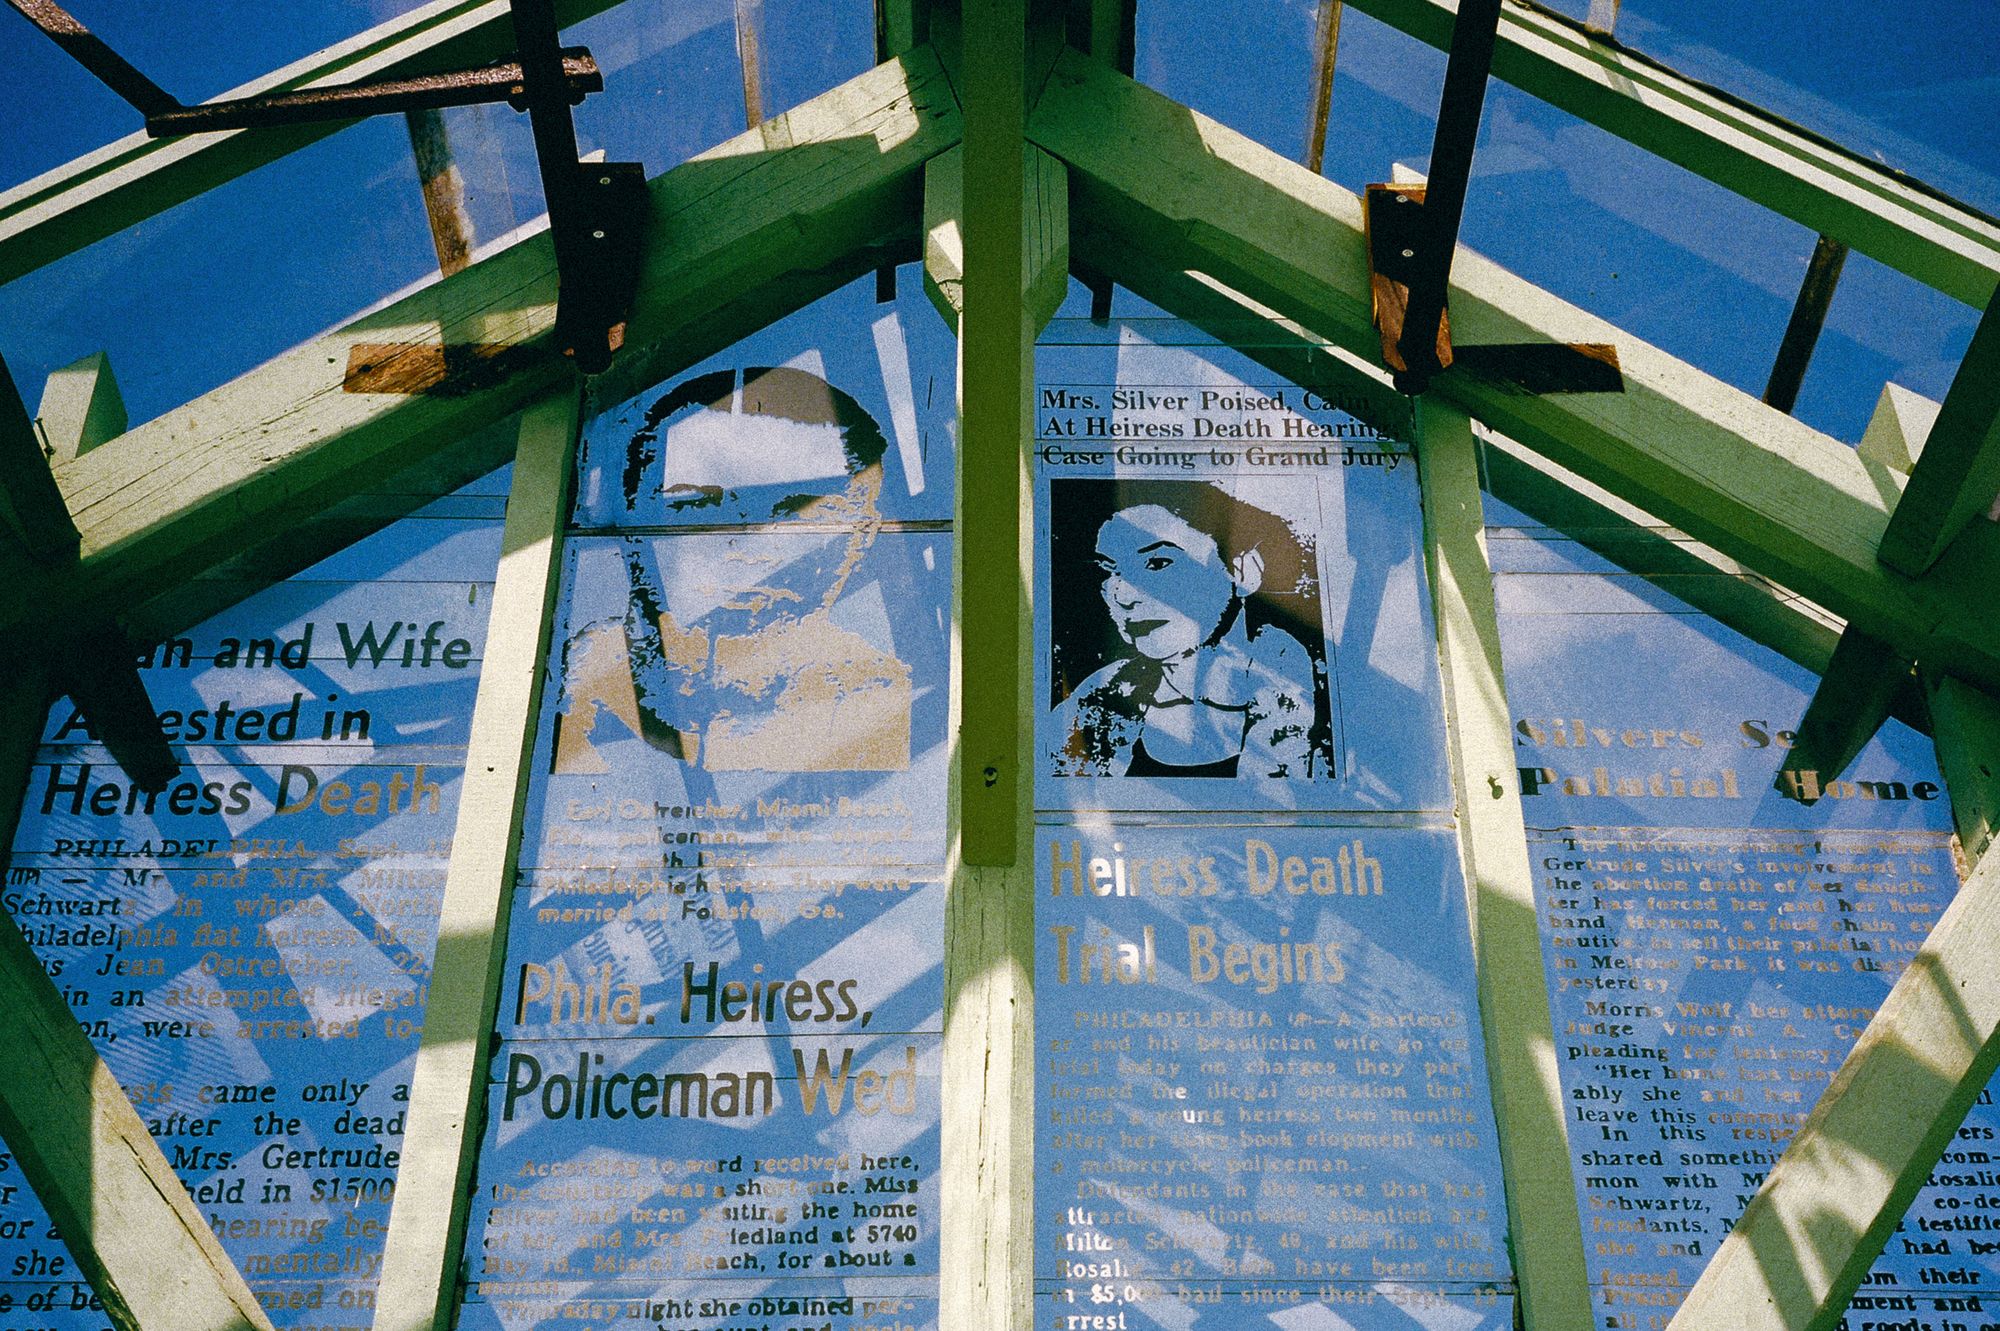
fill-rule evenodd
<path id="1" fill-rule="evenodd" d="M 1416 462 L 1520 1313 L 1530 1327 L 1590 1327 L 1596 1323 L 1556 1035 L 1540 981 L 1542 931 L 1514 769 L 1514 717 L 1500 669 L 1478 456 L 1464 412 L 1438 402 L 1418 406 Z"/>

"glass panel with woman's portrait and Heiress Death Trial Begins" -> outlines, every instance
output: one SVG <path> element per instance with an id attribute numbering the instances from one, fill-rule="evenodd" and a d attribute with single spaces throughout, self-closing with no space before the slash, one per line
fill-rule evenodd
<path id="1" fill-rule="evenodd" d="M 1042 342 L 1036 1297 L 1510 1327 L 1414 460 L 1254 356 Z"/>

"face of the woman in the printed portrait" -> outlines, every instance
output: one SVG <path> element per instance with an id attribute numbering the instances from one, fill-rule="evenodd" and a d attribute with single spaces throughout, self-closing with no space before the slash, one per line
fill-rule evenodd
<path id="1" fill-rule="evenodd" d="M 1156 662 L 1214 638 L 1236 598 L 1214 538 L 1156 504 L 1120 510 L 1098 528 L 1098 568 L 1118 636 Z"/>

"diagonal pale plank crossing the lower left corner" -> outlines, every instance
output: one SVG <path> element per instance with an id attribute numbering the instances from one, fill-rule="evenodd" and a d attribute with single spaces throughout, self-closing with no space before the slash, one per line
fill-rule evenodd
<path id="1" fill-rule="evenodd" d="M 6 658 L 0 867 L 50 697 L 40 662 L 18 644 L 8 644 Z M 0 911 L 0 1135 L 120 1331 L 270 1331 L 8 911 Z"/>

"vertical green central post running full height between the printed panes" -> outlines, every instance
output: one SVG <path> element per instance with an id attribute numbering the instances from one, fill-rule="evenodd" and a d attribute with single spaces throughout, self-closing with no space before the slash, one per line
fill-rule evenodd
<path id="1" fill-rule="evenodd" d="M 936 18 L 950 40 L 950 16 Z M 938 1325 L 1000 1329 L 1034 1325 L 1028 0 L 964 0 L 956 18 L 968 58 L 954 62 L 966 132 Z"/>

